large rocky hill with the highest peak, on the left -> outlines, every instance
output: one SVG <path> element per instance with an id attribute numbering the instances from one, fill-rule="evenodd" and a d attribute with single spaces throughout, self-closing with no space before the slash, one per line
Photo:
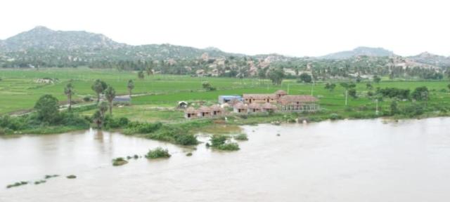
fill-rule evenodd
<path id="1" fill-rule="evenodd" d="M 78 61 L 188 59 L 200 58 L 203 53 L 212 57 L 242 56 L 224 53 L 218 48 L 200 49 L 171 44 L 130 46 L 117 43 L 103 34 L 54 31 L 41 26 L 0 41 L 0 53 L 11 60 L 48 60 L 49 57 L 56 57 Z"/>

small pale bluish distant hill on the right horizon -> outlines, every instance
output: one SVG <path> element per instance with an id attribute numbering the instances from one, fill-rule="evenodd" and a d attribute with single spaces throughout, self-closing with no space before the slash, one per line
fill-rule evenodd
<path id="1" fill-rule="evenodd" d="M 348 59 L 353 58 L 360 55 L 367 55 L 370 57 L 385 57 L 385 56 L 394 56 L 395 54 L 391 50 L 386 50 L 385 48 L 371 48 L 360 46 L 354 48 L 353 50 L 340 51 L 337 53 L 330 53 L 328 55 L 323 55 L 319 58 L 321 59 L 330 59 L 330 60 L 339 60 L 339 59 Z"/>

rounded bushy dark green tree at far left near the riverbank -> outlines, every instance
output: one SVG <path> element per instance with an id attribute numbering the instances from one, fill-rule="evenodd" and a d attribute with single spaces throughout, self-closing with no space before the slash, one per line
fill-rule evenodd
<path id="1" fill-rule="evenodd" d="M 37 112 L 37 119 L 47 123 L 53 123 L 59 114 L 58 99 L 52 95 L 42 95 L 37 100 L 34 109 Z"/>

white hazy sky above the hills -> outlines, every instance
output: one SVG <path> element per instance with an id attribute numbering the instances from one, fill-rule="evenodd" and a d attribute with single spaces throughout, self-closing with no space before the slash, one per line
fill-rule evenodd
<path id="1" fill-rule="evenodd" d="M 450 55 L 444 0 L 2 0 L 0 8 L 0 39 L 43 25 L 233 53 L 319 56 L 372 46 Z"/>

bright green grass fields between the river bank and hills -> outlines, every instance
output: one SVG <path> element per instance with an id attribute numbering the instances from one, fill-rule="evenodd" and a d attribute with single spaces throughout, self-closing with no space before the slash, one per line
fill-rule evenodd
<path id="1" fill-rule="evenodd" d="M 39 96 L 52 94 L 61 102 L 66 100 L 63 94 L 64 86 L 72 81 L 75 86 L 76 99 L 82 100 L 86 95 L 95 96 L 91 84 L 95 79 L 102 79 L 113 86 L 118 95 L 127 94 L 127 81 L 135 82 L 134 94 L 144 94 L 133 97 L 132 106 L 115 107 L 113 112 L 118 116 L 126 116 L 132 120 L 145 121 L 173 121 L 182 120 L 183 113 L 179 110 L 168 109 L 175 107 L 180 100 L 203 100 L 215 102 L 218 95 L 242 95 L 243 93 L 274 93 L 283 89 L 289 94 L 311 95 L 320 99 L 321 107 L 325 112 L 344 113 L 345 89 L 337 85 L 333 92 L 324 89 L 324 83 L 311 84 L 296 83 L 294 80 L 285 80 L 280 86 L 273 86 L 269 81 L 259 83 L 257 79 L 233 79 L 191 77 L 174 75 L 152 75 L 145 79 L 137 79 L 135 72 L 119 72 L 115 69 L 87 69 L 87 68 L 52 68 L 52 69 L 1 69 L 0 70 L 0 114 L 32 109 Z M 52 78 L 59 82 L 54 84 L 36 83 L 36 79 Z M 202 88 L 203 81 L 209 81 L 217 90 L 206 92 Z M 430 89 L 428 105 L 449 105 L 450 93 L 446 87 L 449 81 L 383 81 L 373 83 L 375 88 L 395 87 L 409 88 L 411 91 L 419 86 Z M 354 109 L 373 110 L 375 102 L 366 97 L 366 83 L 356 85 L 359 98 L 349 98 L 349 107 Z M 390 102 L 380 102 L 380 107 L 388 107 Z M 402 105 L 402 103 L 399 103 Z M 165 107 L 165 108 L 155 108 Z M 94 111 L 83 112 L 86 115 Z"/>

